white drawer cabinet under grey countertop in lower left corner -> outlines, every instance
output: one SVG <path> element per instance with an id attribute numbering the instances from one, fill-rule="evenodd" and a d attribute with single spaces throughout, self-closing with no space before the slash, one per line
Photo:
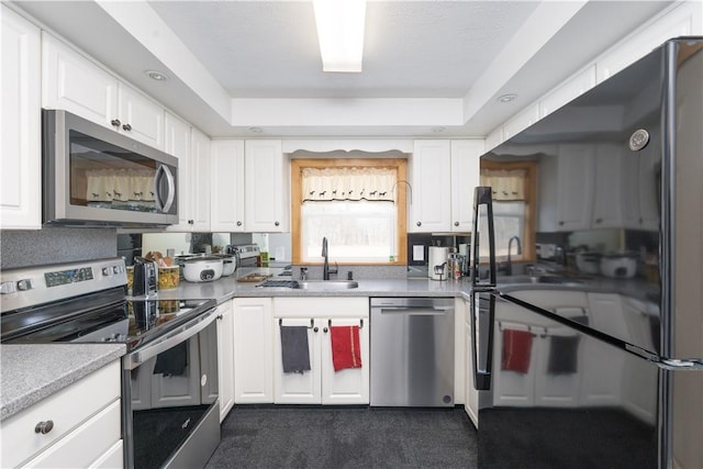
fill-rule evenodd
<path id="1" fill-rule="evenodd" d="M 120 378 L 115 360 L 4 420 L 0 467 L 123 467 Z"/>

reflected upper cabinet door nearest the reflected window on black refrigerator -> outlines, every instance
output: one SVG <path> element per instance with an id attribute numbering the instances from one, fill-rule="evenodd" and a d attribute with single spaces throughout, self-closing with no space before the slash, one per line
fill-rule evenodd
<path id="1" fill-rule="evenodd" d="M 593 212 L 593 147 L 561 145 L 557 167 L 557 231 L 587 230 Z"/>

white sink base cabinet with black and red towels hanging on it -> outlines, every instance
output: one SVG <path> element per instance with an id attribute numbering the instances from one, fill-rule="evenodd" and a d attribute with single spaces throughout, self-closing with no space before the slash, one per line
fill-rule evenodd
<path id="1" fill-rule="evenodd" d="M 369 403 L 368 298 L 275 300 L 274 402 L 277 404 Z M 334 370 L 330 327 L 358 325 L 360 368 Z M 308 327 L 310 371 L 283 372 L 280 326 Z"/>

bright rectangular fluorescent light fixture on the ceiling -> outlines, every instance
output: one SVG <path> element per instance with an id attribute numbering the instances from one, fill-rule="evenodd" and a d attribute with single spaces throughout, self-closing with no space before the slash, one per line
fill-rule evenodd
<path id="1" fill-rule="evenodd" d="M 359 72 L 366 0 L 313 0 L 322 71 Z"/>

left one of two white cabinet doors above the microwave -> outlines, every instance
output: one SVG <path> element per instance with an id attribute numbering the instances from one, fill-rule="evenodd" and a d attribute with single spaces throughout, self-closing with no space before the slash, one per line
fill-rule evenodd
<path id="1" fill-rule="evenodd" d="M 118 80 L 55 37 L 42 35 L 42 107 L 115 129 Z"/>

